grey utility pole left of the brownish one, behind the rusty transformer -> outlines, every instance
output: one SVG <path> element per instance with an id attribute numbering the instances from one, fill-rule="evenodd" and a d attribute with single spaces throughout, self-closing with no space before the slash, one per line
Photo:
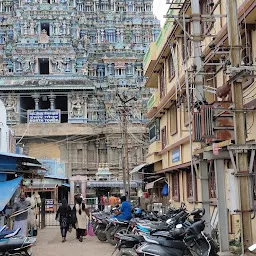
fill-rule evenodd
<path id="1" fill-rule="evenodd" d="M 194 65 L 196 70 L 199 71 L 194 78 L 195 85 L 195 97 L 196 97 L 196 106 L 198 107 L 204 103 L 204 80 L 203 75 L 200 74 L 202 70 L 202 50 L 201 50 L 201 14 L 200 14 L 200 5 L 199 0 L 191 0 L 191 18 L 193 26 L 193 57 Z M 188 103 L 189 104 L 189 103 Z M 210 196 L 209 196 L 209 178 L 208 178 L 208 165 L 207 161 L 200 157 L 199 160 L 199 179 L 202 189 L 202 207 L 205 209 L 205 231 L 208 234 L 211 234 L 211 213 L 210 213 Z"/>

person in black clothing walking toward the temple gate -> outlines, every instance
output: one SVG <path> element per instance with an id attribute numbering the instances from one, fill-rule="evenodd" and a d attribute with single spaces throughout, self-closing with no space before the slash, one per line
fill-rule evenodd
<path id="1" fill-rule="evenodd" d="M 60 221 L 60 231 L 62 236 L 62 242 L 66 241 L 66 235 L 70 225 L 70 218 L 71 218 L 71 208 L 68 205 L 67 200 L 64 198 L 62 199 L 62 205 L 59 207 L 56 213 L 56 220 L 59 219 Z"/>

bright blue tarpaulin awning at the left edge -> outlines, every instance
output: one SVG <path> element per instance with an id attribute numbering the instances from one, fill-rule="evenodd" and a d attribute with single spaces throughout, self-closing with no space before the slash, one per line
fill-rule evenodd
<path id="1" fill-rule="evenodd" d="M 22 177 L 0 182 L 0 211 L 8 204 L 17 190 Z"/>

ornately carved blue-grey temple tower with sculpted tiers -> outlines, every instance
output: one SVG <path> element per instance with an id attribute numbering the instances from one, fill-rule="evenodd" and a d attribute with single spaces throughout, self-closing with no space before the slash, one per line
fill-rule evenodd
<path id="1" fill-rule="evenodd" d="M 130 168 L 143 162 L 152 0 L 4 0 L 0 13 L 1 98 L 27 153 L 69 177 L 94 178 L 104 163 L 122 179 L 119 93 L 137 99 L 126 108 Z"/>

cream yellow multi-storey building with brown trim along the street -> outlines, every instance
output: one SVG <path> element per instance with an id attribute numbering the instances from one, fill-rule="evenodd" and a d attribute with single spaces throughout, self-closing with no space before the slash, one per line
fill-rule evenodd
<path id="1" fill-rule="evenodd" d="M 214 164 L 214 157 L 208 158 L 205 164 L 207 175 L 202 177 L 202 170 L 198 165 L 201 159 L 196 159 L 196 157 L 202 157 L 207 146 L 208 155 L 213 151 L 218 155 L 218 150 L 221 151 L 221 149 L 217 147 L 212 151 L 213 142 L 224 141 L 227 143 L 223 143 L 223 151 L 225 145 L 234 142 L 233 113 L 235 111 L 232 112 L 229 109 L 232 106 L 231 83 L 237 77 L 244 79 L 243 97 L 247 141 L 248 143 L 255 141 L 256 137 L 253 131 L 256 129 L 254 123 L 256 86 L 254 80 L 256 44 L 254 39 L 256 32 L 253 28 L 256 25 L 256 3 L 249 0 L 237 1 L 238 33 L 241 38 L 239 47 L 242 61 L 237 70 L 232 70 L 230 68 L 226 1 L 199 1 L 201 9 L 200 35 L 193 34 L 193 17 L 196 15 L 191 15 L 191 2 L 193 1 L 173 1 L 170 4 L 169 20 L 165 23 L 157 41 L 151 44 L 144 57 L 144 72 L 148 77 L 146 87 L 155 90 L 148 101 L 150 145 L 147 162 L 154 167 L 157 174 L 163 176 L 162 179 L 155 181 L 154 186 L 151 183 L 149 191 L 161 192 L 165 182 L 168 181 L 168 199 L 172 200 L 174 205 L 177 206 L 181 202 L 185 202 L 187 207 L 192 209 L 195 205 L 201 206 L 203 203 L 204 206 L 209 205 L 210 202 L 211 228 L 217 227 L 220 220 L 216 217 L 219 207 L 217 204 L 220 202 L 218 199 L 225 197 L 226 194 L 224 213 L 226 214 L 227 208 L 231 213 L 228 214 L 226 222 L 228 223 L 228 232 L 233 237 L 239 238 L 238 212 L 234 210 L 239 209 L 234 208 L 238 206 L 234 206 L 234 204 L 239 202 L 239 199 L 236 197 L 237 192 L 234 192 L 235 186 L 232 185 L 234 184 L 231 181 L 232 175 L 230 176 L 232 171 L 229 170 L 235 169 L 232 163 L 233 159 L 229 157 L 227 150 L 228 156 L 223 156 L 225 160 L 222 159 L 223 169 L 218 170 Z M 201 43 L 200 51 L 195 49 L 195 44 L 198 41 Z M 196 52 L 199 52 L 202 60 L 202 68 L 199 70 L 195 66 Z M 244 73 L 246 75 L 239 76 L 237 71 L 246 71 Z M 197 84 L 195 84 L 197 75 L 203 76 L 204 89 L 204 97 L 202 97 L 204 100 L 199 105 L 196 105 L 198 103 L 198 99 L 196 99 Z M 248 156 L 250 157 L 250 153 Z M 205 153 L 203 157 L 206 157 Z M 253 159 L 251 161 L 253 163 Z M 193 173 L 191 169 L 194 169 Z M 217 171 L 222 172 L 222 180 L 220 180 L 220 174 L 218 174 L 219 177 L 216 177 Z M 255 172 L 255 164 L 252 171 Z M 216 180 L 219 181 L 219 184 L 216 183 Z M 217 187 L 222 184 L 226 187 L 226 191 L 223 194 L 219 193 L 217 199 Z M 159 197 L 161 197 L 161 193 L 159 193 Z M 252 197 L 255 203 L 255 186 Z M 205 200 L 207 198 L 208 200 Z M 225 216 L 221 218 L 225 219 Z M 252 220 L 252 225 L 255 225 L 255 220 Z M 254 231 L 255 229 L 253 229 L 253 238 L 256 241 Z"/>

